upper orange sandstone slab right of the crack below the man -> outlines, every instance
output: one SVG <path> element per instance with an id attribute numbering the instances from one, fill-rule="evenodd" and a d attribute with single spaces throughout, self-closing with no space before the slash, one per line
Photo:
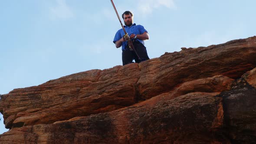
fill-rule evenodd
<path id="1" fill-rule="evenodd" d="M 224 44 L 165 53 L 141 62 L 139 93 L 148 99 L 195 79 L 224 75 L 238 79 L 256 67 L 256 36 Z"/>

